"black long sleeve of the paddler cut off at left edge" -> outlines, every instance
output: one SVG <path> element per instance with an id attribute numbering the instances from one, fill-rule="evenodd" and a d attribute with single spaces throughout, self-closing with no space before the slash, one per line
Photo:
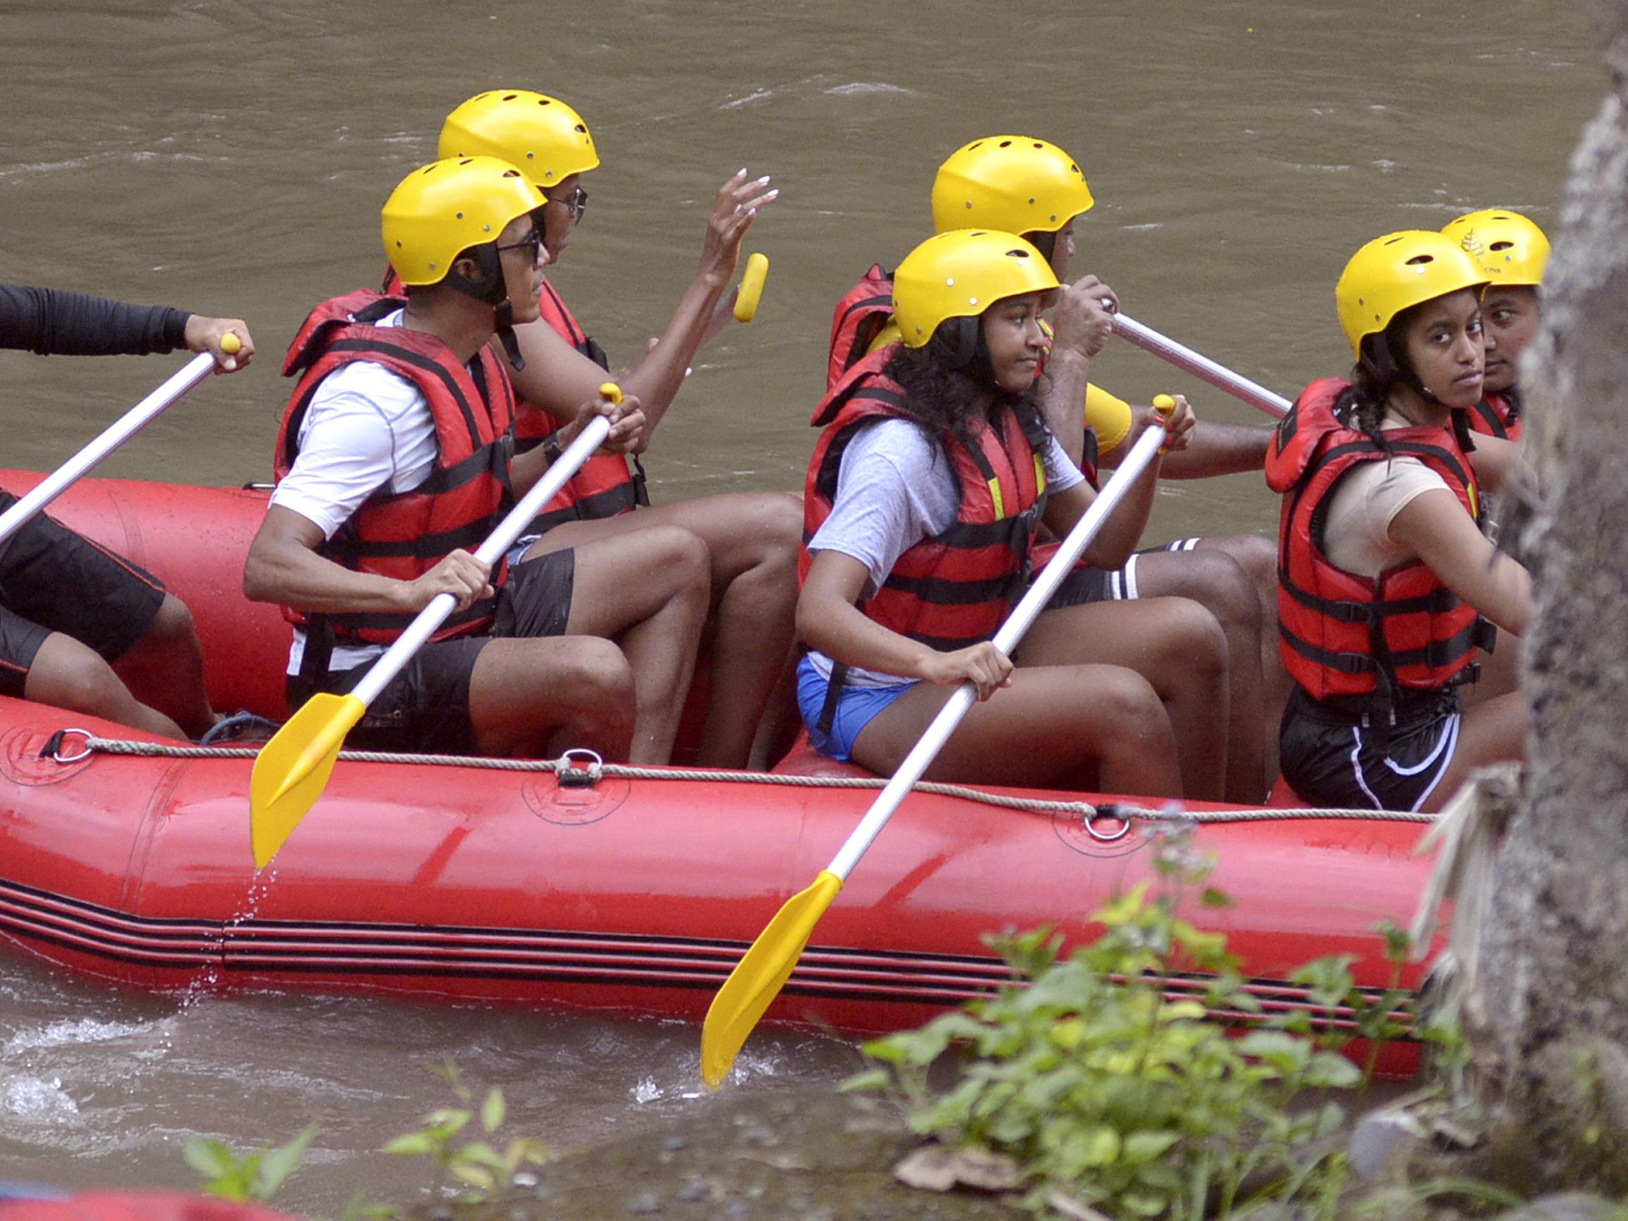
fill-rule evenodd
<path id="1" fill-rule="evenodd" d="M 106 296 L 0 283 L 0 348 L 39 355 L 145 357 L 186 347 L 187 314 Z"/>

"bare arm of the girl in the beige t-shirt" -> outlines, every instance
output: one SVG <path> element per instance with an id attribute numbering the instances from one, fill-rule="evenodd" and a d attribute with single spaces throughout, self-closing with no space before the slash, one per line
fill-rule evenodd
<path id="1" fill-rule="evenodd" d="M 1493 547 L 1447 488 L 1424 492 L 1390 519 L 1390 537 L 1405 544 L 1442 584 L 1498 627 L 1519 637 L 1532 620 L 1532 578 Z"/>

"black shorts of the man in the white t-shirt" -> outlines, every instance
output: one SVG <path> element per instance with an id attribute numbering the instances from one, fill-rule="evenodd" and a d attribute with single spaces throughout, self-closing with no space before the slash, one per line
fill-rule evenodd
<path id="1" fill-rule="evenodd" d="M 402 672 L 386 684 L 345 746 L 357 751 L 410 751 L 423 754 L 475 754 L 475 728 L 469 720 L 469 679 L 475 658 L 490 640 L 565 635 L 576 583 L 576 554 L 549 552 L 510 568 L 498 593 L 492 628 L 479 637 L 453 637 L 420 648 Z M 317 690 L 344 695 L 374 663 L 329 671 L 321 684 L 288 677 L 288 707 L 298 708 Z"/>

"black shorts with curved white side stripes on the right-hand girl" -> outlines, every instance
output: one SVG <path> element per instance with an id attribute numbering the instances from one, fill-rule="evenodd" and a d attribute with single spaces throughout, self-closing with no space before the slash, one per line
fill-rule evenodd
<path id="1" fill-rule="evenodd" d="M 1382 733 L 1296 687 L 1278 739 L 1283 778 L 1314 806 L 1413 811 L 1452 762 L 1459 720 L 1451 689 L 1405 695 Z"/>

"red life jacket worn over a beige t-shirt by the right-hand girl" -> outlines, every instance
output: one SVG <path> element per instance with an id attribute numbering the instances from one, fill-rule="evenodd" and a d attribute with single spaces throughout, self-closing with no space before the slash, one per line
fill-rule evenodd
<path id="1" fill-rule="evenodd" d="M 1490 625 L 1436 573 L 1411 560 L 1377 578 L 1328 562 L 1322 529 L 1335 484 L 1359 462 L 1416 457 L 1478 518 L 1475 470 L 1451 428 L 1385 430 L 1385 444 L 1351 427 L 1348 383 L 1314 381 L 1278 423 L 1267 484 L 1283 493 L 1278 529 L 1278 651 L 1314 698 L 1447 685 L 1488 640 Z"/>

